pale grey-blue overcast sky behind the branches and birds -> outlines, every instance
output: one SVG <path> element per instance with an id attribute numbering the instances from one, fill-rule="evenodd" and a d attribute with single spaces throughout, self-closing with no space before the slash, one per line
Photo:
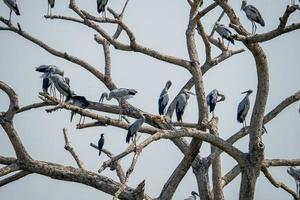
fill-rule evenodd
<path id="1" fill-rule="evenodd" d="M 77 2 L 81 8 L 97 15 L 96 0 L 78 0 Z M 110 1 L 108 5 L 119 12 L 124 2 L 124 0 Z M 229 0 L 229 2 L 242 23 L 250 31 L 251 23 L 240 11 L 241 1 Z M 209 3 L 211 1 L 205 1 L 204 5 Z M 283 14 L 290 1 L 252 0 L 251 3 L 261 11 L 265 19 L 266 26 L 263 28 L 258 26 L 257 28 L 257 32 L 262 33 L 277 27 L 279 16 Z M 44 19 L 43 15 L 47 11 L 46 0 L 19 0 L 18 4 L 21 16 L 13 15 L 12 22 L 14 24 L 16 21 L 20 22 L 24 31 L 45 41 L 51 47 L 85 59 L 97 69 L 104 71 L 102 47 L 93 40 L 94 31 L 72 22 Z M 215 9 L 209 16 L 203 18 L 206 32 L 211 31 L 213 23 L 220 13 L 220 9 Z M 53 14 L 74 16 L 74 13 L 68 9 L 68 1 L 66 0 L 56 2 Z M 134 32 L 137 42 L 163 53 L 188 59 L 185 39 L 188 14 L 189 6 L 186 1 L 131 0 L 126 10 L 124 22 Z M 0 15 L 9 16 L 9 9 L 2 1 L 0 2 Z M 111 17 L 108 13 L 107 16 Z M 299 22 L 299 20 L 300 12 L 295 12 L 289 23 Z M 227 25 L 228 19 L 225 17 L 221 23 Z M 116 27 L 106 25 L 105 28 L 108 32 L 113 33 Z M 121 39 L 126 41 L 124 35 Z M 300 32 L 295 31 L 262 44 L 268 58 L 270 73 L 270 96 L 266 112 L 299 90 L 299 42 Z M 197 45 L 203 63 L 204 46 L 199 36 L 197 36 Z M 239 42 L 231 47 L 232 49 L 243 48 Z M 173 82 L 170 89 L 170 97 L 173 98 L 190 78 L 190 74 L 180 67 L 138 53 L 121 52 L 113 47 L 110 47 L 110 50 L 114 82 L 118 87 L 135 88 L 139 91 L 130 100 L 130 103 L 147 112 L 157 113 L 157 99 L 167 80 Z M 213 53 L 214 56 L 217 56 L 220 52 L 213 50 Z M 34 69 L 42 64 L 54 64 L 62 68 L 65 71 L 65 76 L 71 79 L 72 90 L 86 96 L 89 100 L 98 101 L 101 93 L 107 91 L 99 80 L 80 66 L 48 54 L 45 50 L 15 33 L 0 32 L 0 80 L 13 87 L 20 97 L 21 106 L 40 101 L 38 92 L 41 91 L 42 82 L 40 74 Z M 226 101 L 218 104 L 216 108 L 216 115 L 220 118 L 220 137 L 226 139 L 242 126 L 236 121 L 236 110 L 239 101 L 243 98 L 241 92 L 247 89 L 254 90 L 250 96 L 252 109 L 257 85 L 254 59 L 249 51 L 234 56 L 205 74 L 204 81 L 206 93 L 217 88 L 226 95 Z M 6 110 L 8 99 L 3 92 L 0 92 L 0 102 L 0 111 Z M 117 102 L 111 101 L 110 103 L 116 104 Z M 197 121 L 196 105 L 195 98 L 191 97 L 183 117 L 184 121 Z M 266 125 L 269 133 L 263 136 L 263 142 L 266 145 L 266 158 L 300 158 L 299 107 L 299 102 L 293 104 Z M 101 114 L 108 115 L 106 113 Z M 69 153 L 63 148 L 62 128 L 66 127 L 70 133 L 70 140 L 82 161 L 89 170 L 96 172 L 101 163 L 108 158 L 104 155 L 99 158 L 98 153 L 89 146 L 89 143 L 96 143 L 100 133 L 105 133 L 104 148 L 118 154 L 127 147 L 125 143 L 126 130 L 113 127 L 76 130 L 78 117 L 78 115 L 75 116 L 75 120 L 70 123 L 69 111 L 47 114 L 45 109 L 41 108 L 17 115 L 15 126 L 25 147 L 34 159 L 76 166 Z M 117 118 L 117 116 L 113 117 Z M 247 119 L 249 122 L 250 117 L 248 116 Z M 86 121 L 91 120 L 86 119 Z M 142 139 L 146 137 L 148 136 L 145 135 Z M 247 151 L 248 138 L 239 141 L 236 146 Z M 204 145 L 201 149 L 201 155 L 208 155 L 209 152 L 209 145 Z M 14 156 L 11 144 L 3 129 L 0 129 L 0 154 Z M 182 157 L 183 154 L 172 142 L 158 141 L 151 144 L 143 150 L 136 169 L 130 177 L 129 185 L 136 187 L 138 183 L 146 179 L 147 194 L 157 197 Z M 127 169 L 130 159 L 131 156 L 122 160 L 124 169 Z M 226 155 L 222 156 L 222 161 L 223 174 L 235 165 L 235 162 Z M 287 175 L 285 167 L 272 168 L 270 171 L 276 179 L 283 181 L 291 188 L 295 188 L 295 183 Z M 115 172 L 106 170 L 103 174 L 117 180 Z M 226 199 L 238 199 L 239 184 L 240 178 L 237 178 L 225 188 Z M 192 190 L 197 190 L 197 186 L 192 170 L 190 170 L 180 183 L 173 199 L 184 199 L 189 196 Z M 56 181 L 40 175 L 30 175 L 0 188 L 0 196 L 3 199 L 11 200 L 41 198 L 60 200 L 86 197 L 90 200 L 111 199 L 107 194 L 93 188 L 76 183 Z M 261 175 L 258 179 L 256 199 L 268 199 L 267 197 L 272 197 L 274 200 L 291 199 L 286 192 L 274 188 Z"/>

